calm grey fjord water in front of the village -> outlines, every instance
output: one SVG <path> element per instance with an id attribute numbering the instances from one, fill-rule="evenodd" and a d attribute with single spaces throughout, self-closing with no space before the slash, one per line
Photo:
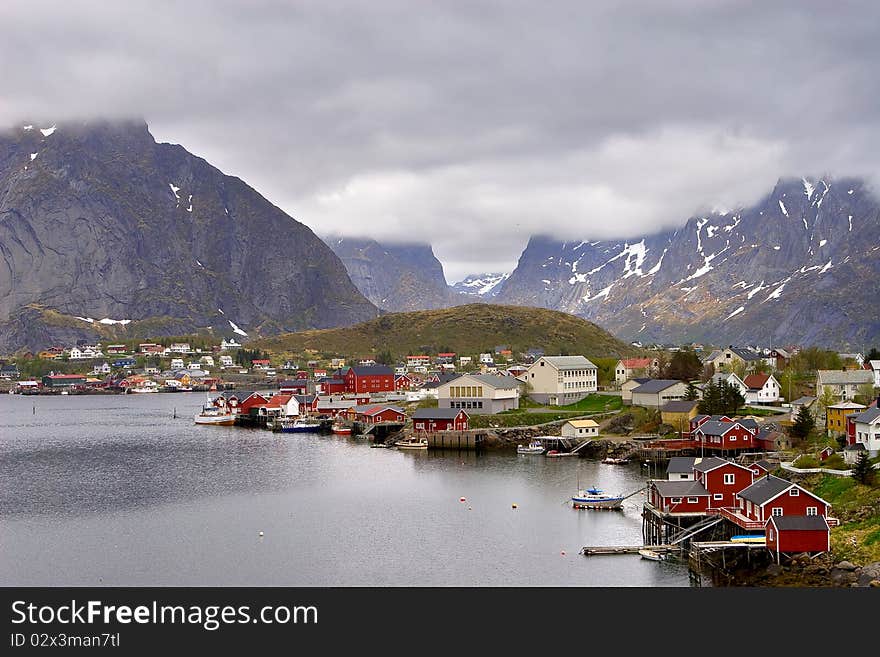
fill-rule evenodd
<path id="1" fill-rule="evenodd" d="M 578 554 L 641 544 L 643 493 L 565 503 L 638 489 L 639 464 L 198 426 L 203 400 L 0 395 L 0 585 L 688 586 Z"/>

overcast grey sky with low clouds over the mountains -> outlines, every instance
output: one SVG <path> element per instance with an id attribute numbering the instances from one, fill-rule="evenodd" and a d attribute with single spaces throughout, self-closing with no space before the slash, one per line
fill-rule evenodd
<path id="1" fill-rule="evenodd" d="M 0 2 L 0 125 L 143 117 L 318 235 L 626 239 L 880 172 L 880 3 Z"/>

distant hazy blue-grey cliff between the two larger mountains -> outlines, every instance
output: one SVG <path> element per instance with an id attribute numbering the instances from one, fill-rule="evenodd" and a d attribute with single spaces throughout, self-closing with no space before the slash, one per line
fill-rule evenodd
<path id="1" fill-rule="evenodd" d="M 452 292 L 429 244 L 379 244 L 327 237 L 358 290 L 383 310 L 433 310 L 467 303 Z"/>

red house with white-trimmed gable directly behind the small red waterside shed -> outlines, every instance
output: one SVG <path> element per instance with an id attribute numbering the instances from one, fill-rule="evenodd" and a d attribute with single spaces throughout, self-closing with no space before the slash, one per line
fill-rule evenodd
<path id="1" fill-rule="evenodd" d="M 795 483 L 768 474 L 737 494 L 740 513 L 753 522 L 765 523 L 773 516 L 823 516 L 831 505 Z M 834 520 L 836 524 L 836 520 Z"/>

